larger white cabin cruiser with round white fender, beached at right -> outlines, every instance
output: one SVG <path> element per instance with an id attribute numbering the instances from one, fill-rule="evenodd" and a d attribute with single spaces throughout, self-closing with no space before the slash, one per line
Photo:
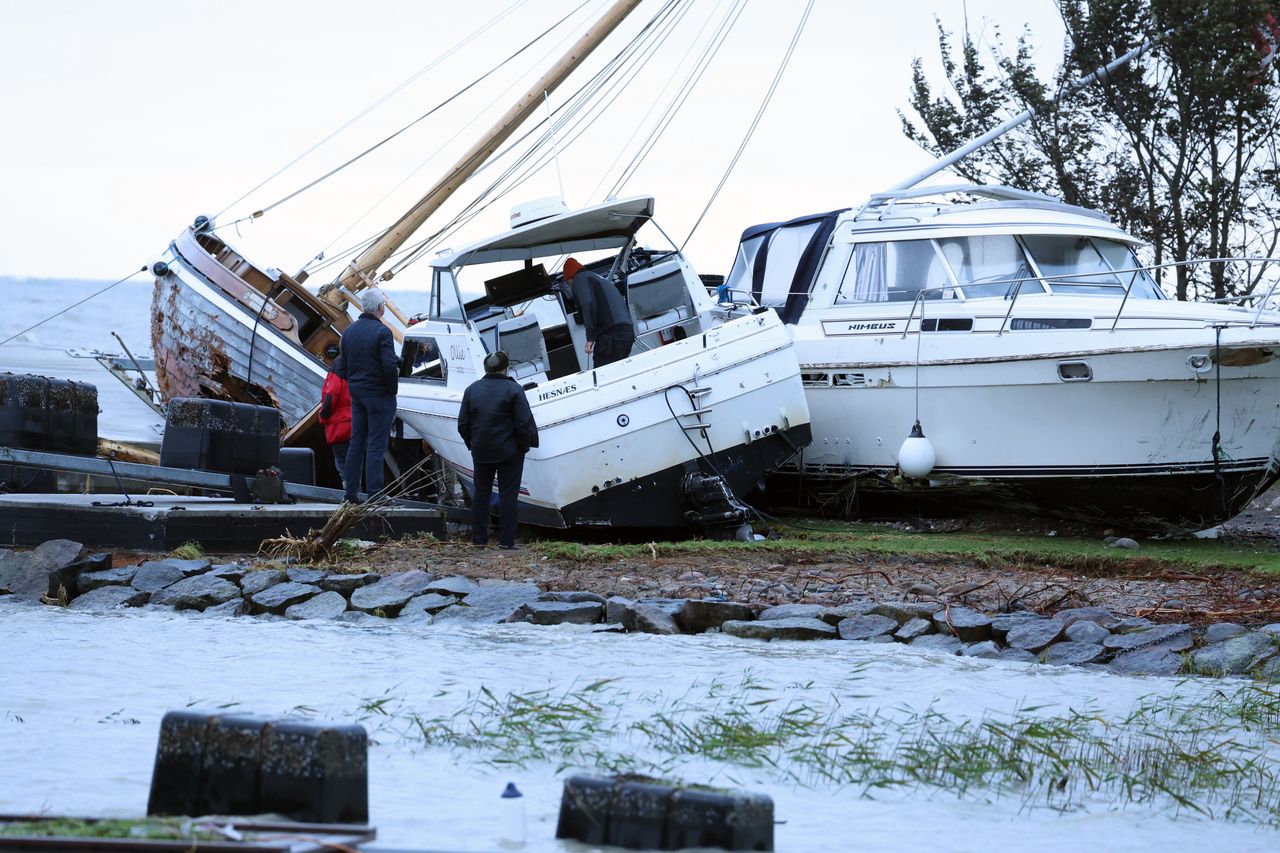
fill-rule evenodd
<path id="1" fill-rule="evenodd" d="M 785 478 L 863 508 L 1231 517 L 1280 471 L 1280 314 L 1270 293 L 1166 298 L 1175 265 L 1143 266 L 1138 245 L 1103 214 L 991 186 L 749 228 L 722 298 L 791 324 L 814 441 Z M 915 425 L 932 459 L 906 464 Z"/>

